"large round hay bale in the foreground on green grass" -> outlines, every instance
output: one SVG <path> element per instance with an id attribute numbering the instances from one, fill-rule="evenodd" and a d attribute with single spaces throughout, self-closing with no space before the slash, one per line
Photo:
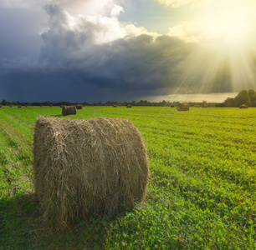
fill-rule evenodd
<path id="1" fill-rule="evenodd" d="M 44 226 L 114 215 L 146 198 L 149 164 L 141 133 L 129 121 L 38 117 L 34 183 Z"/>

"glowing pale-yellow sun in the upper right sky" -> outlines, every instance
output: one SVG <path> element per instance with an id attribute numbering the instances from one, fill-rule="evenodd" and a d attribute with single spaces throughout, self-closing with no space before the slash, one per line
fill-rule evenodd
<path id="1" fill-rule="evenodd" d="M 248 0 L 212 0 L 197 17 L 211 39 L 228 46 L 243 46 L 255 31 L 255 3 Z"/>

